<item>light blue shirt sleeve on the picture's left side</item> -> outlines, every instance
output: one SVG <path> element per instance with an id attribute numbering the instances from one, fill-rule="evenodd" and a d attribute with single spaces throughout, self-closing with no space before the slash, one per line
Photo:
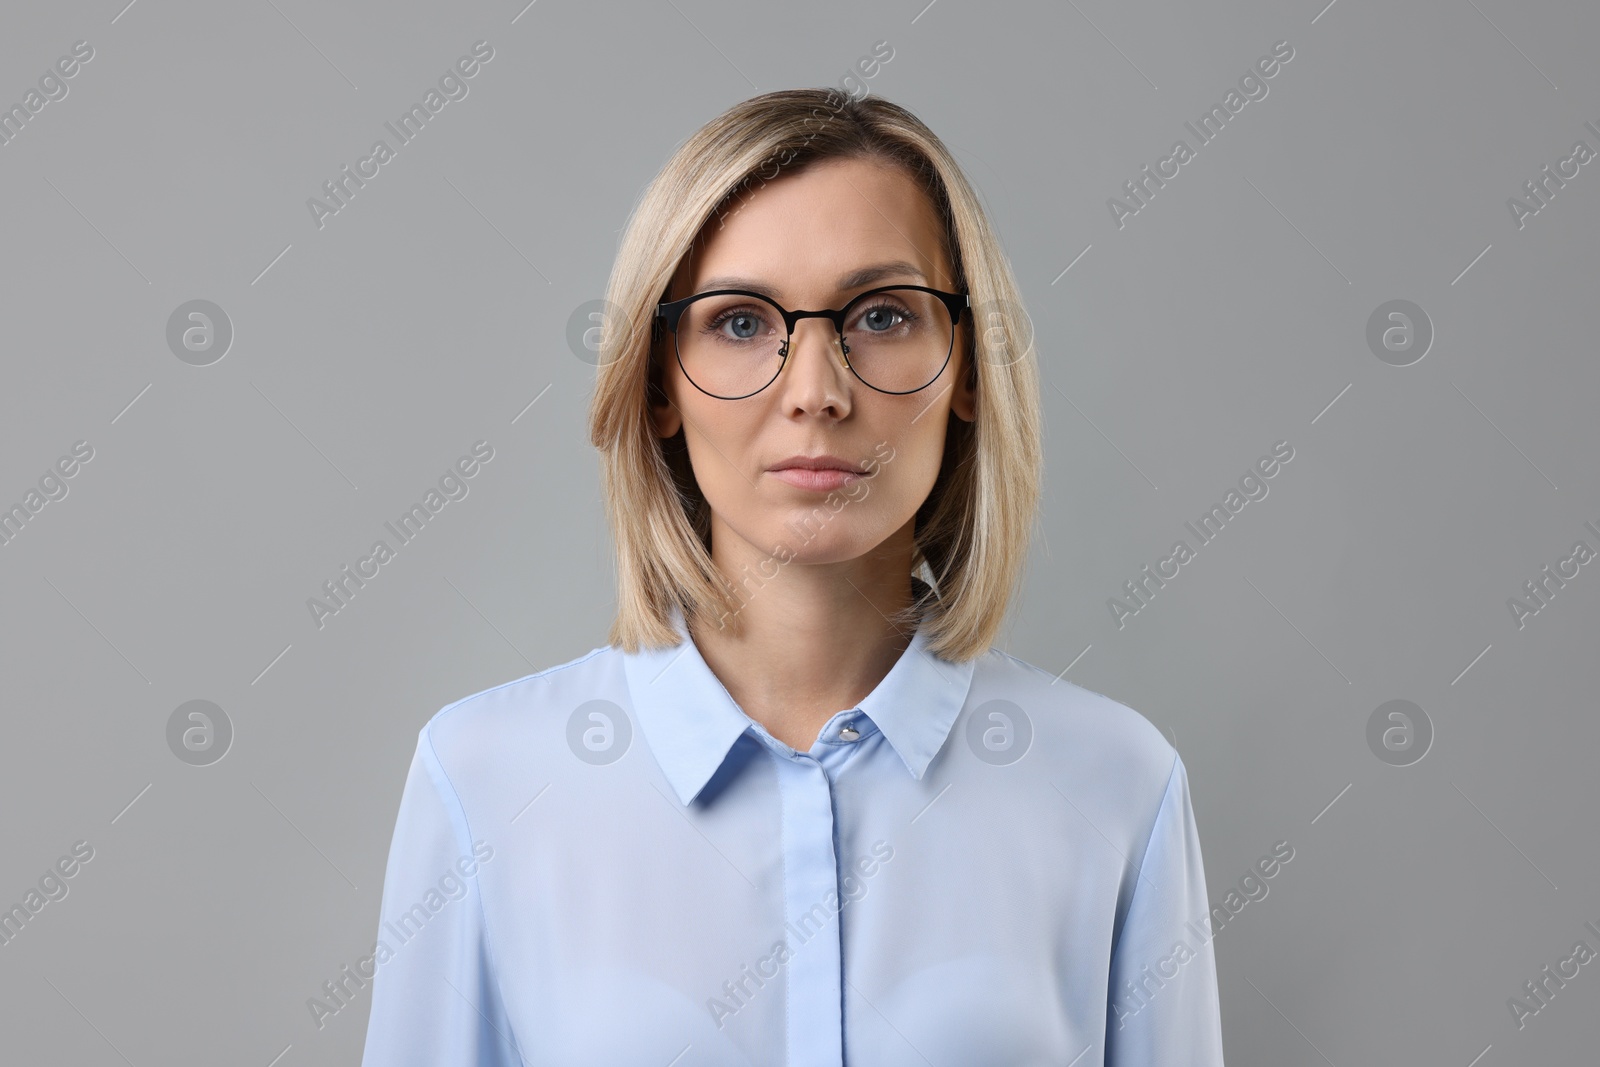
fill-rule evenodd
<path id="1" fill-rule="evenodd" d="M 362 1067 L 522 1064 L 478 891 L 478 865 L 491 857 L 485 841 L 470 841 L 424 726 L 384 870 Z"/>

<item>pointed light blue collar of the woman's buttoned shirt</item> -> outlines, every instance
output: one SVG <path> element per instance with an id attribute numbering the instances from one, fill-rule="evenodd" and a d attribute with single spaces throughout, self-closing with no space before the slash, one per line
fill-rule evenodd
<path id="1" fill-rule="evenodd" d="M 622 662 L 640 729 L 678 800 L 688 805 L 746 731 L 766 744 L 787 745 L 739 709 L 706 665 L 677 606 L 672 625 L 677 645 L 642 648 L 624 654 Z M 976 661 L 958 664 L 928 651 L 925 627 L 918 624 L 901 657 L 856 705 L 883 731 L 912 777 L 920 781 L 944 747 L 966 704 L 974 667 Z"/>

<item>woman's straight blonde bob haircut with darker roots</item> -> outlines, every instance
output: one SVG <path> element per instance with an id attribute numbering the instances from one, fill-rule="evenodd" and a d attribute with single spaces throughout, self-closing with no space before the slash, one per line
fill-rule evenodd
<path id="1" fill-rule="evenodd" d="M 834 158 L 878 160 L 909 174 L 944 224 L 957 288 L 971 294 L 958 336 L 976 418 L 950 416 L 939 474 L 914 522 L 912 576 L 930 589 L 914 584 L 920 595 L 893 622 L 925 619 L 930 651 L 965 662 L 990 648 L 1018 592 L 1038 507 L 1038 370 L 1032 326 L 978 194 L 944 142 L 904 107 L 837 90 L 779 90 L 734 104 L 674 152 L 629 216 L 606 285 L 589 437 L 600 450 L 616 539 L 610 641 L 627 653 L 678 641 L 674 605 L 686 622 L 739 632 L 741 592 L 776 574 L 747 573 L 744 590 L 722 576 L 683 432 L 666 440 L 654 432 L 650 403 L 666 400 L 662 360 L 672 350 L 656 304 L 709 221 L 768 181 Z M 819 512 L 826 522 L 822 507 L 813 517 Z"/>

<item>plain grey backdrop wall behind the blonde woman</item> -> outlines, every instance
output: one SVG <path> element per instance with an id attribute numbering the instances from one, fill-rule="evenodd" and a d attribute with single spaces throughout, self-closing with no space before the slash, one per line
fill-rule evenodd
<path id="1" fill-rule="evenodd" d="M 1045 509 L 1003 648 L 1142 712 L 1189 766 L 1235 1064 L 1571 1064 L 1600 963 L 1507 998 L 1600 925 L 1600 149 L 1587 3 L 750 8 L 11 3 L 0 102 L 94 58 L 0 146 L 0 504 L 94 458 L 0 547 L 0 902 L 94 859 L 0 945 L 3 1059 L 352 1064 L 416 729 L 605 641 L 594 368 L 643 184 L 760 91 L 866 82 L 981 189 L 1035 326 Z M 306 200 L 475 40 L 493 61 L 322 229 Z M 1251 64 L 1294 58 L 1117 227 L 1107 198 Z M 394 138 L 387 138 L 394 141 Z M 1070 269 L 1067 269 L 1070 264 Z M 166 322 L 214 301 L 224 358 Z M 1366 342 L 1390 299 L 1421 362 Z M 531 405 L 531 406 L 530 406 Z M 318 629 L 306 601 L 480 438 L 494 459 Z M 1275 442 L 1291 462 L 1118 629 L 1107 598 Z M 190 766 L 174 709 L 235 736 Z M 1387 701 L 1426 758 L 1368 745 Z M 1414 755 L 1414 750 L 1413 750 Z M 1026 813 L 1019 813 L 1026 817 Z M 278 1057 L 278 1059 L 275 1059 Z"/>

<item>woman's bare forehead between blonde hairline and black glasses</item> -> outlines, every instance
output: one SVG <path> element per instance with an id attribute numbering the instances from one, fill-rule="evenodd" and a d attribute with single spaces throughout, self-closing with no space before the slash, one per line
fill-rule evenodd
<path id="1" fill-rule="evenodd" d="M 922 187 L 882 162 L 824 160 L 752 181 L 701 230 L 672 288 L 686 296 L 709 278 L 739 277 L 810 307 L 805 301 L 837 296 L 851 272 L 890 261 L 915 266 L 925 285 L 952 288 L 944 227 Z"/>

